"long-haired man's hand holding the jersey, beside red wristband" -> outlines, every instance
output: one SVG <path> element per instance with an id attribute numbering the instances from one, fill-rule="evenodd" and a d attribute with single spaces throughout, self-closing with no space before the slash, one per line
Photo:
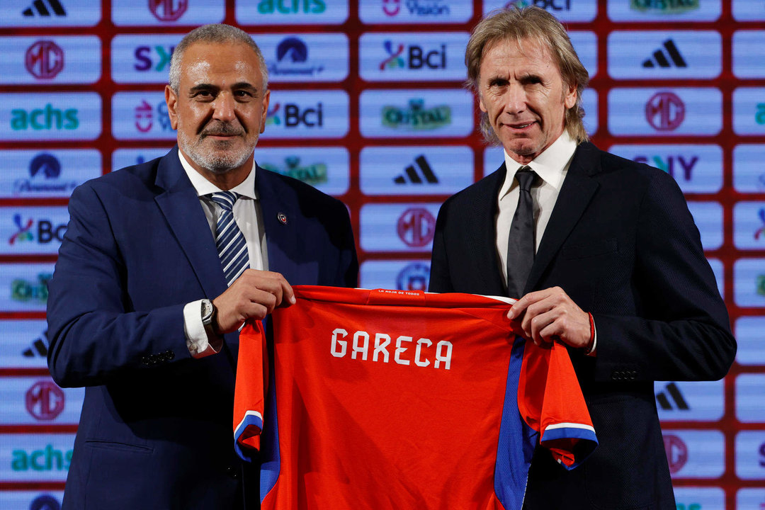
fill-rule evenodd
<path id="1" fill-rule="evenodd" d="M 561 287 L 529 292 L 507 312 L 510 320 L 521 320 L 526 339 L 536 345 L 560 340 L 577 349 L 589 349 L 590 316 L 568 297 Z"/>

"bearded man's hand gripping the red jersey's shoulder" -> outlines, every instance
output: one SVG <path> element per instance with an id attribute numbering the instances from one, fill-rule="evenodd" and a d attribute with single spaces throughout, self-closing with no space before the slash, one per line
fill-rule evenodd
<path id="1" fill-rule="evenodd" d="M 275 307 L 295 304 L 295 294 L 282 274 L 247 269 L 213 304 L 218 331 L 231 333 L 246 320 L 262 320 Z"/>

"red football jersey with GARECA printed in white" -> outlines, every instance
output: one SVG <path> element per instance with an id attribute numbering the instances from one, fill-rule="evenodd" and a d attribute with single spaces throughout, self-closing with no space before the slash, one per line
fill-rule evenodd
<path id="1" fill-rule="evenodd" d="M 261 323 L 239 336 L 236 450 L 261 450 L 262 508 L 519 509 L 540 435 L 567 469 L 597 445 L 565 347 L 516 336 L 507 303 L 293 288 L 269 349 Z"/>

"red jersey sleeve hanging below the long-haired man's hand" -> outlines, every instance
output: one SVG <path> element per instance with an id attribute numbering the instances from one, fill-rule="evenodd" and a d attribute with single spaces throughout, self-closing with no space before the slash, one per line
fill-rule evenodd
<path id="1" fill-rule="evenodd" d="M 574 469 L 597 447 L 584 395 L 560 343 L 526 342 L 518 382 L 518 410 L 539 443 L 566 469 Z"/>

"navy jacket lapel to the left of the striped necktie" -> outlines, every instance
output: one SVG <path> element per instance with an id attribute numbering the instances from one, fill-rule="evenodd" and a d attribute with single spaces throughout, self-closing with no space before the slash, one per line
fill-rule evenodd
<path id="1" fill-rule="evenodd" d="M 155 201 L 181 245 L 204 295 L 217 297 L 226 290 L 215 240 L 194 186 L 181 166 L 177 148 L 159 162 L 155 184 L 164 192 Z"/>

